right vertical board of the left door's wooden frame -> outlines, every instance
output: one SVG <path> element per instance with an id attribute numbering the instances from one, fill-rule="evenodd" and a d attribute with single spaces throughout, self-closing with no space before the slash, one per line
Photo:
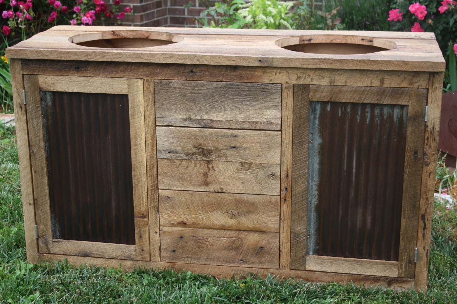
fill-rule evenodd
<path id="1" fill-rule="evenodd" d="M 128 79 L 128 110 L 130 118 L 130 145 L 132 149 L 136 259 L 149 261 L 149 210 L 142 79 Z"/>

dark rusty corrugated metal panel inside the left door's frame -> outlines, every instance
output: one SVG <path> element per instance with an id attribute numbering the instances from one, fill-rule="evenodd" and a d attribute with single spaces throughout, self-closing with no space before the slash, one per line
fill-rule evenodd
<path id="1" fill-rule="evenodd" d="M 41 97 L 53 238 L 135 245 L 128 95 Z"/>

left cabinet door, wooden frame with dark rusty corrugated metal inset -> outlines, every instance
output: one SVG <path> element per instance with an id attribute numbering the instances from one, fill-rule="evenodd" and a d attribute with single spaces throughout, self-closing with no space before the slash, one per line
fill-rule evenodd
<path id="1" fill-rule="evenodd" d="M 24 82 L 38 251 L 148 261 L 143 80 Z"/>

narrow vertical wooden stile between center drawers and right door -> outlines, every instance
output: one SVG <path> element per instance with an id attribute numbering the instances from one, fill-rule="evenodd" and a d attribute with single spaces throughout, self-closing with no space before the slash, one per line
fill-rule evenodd
<path id="1" fill-rule="evenodd" d="M 290 227 L 292 188 L 293 85 L 282 85 L 281 103 L 281 221 L 279 269 L 290 269 Z"/>

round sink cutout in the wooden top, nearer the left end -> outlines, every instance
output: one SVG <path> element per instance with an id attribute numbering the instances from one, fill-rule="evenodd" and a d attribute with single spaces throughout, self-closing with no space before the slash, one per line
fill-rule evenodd
<path id="1" fill-rule="evenodd" d="M 106 31 L 70 37 L 70 42 L 90 48 L 151 48 L 182 41 L 167 32 Z"/>

